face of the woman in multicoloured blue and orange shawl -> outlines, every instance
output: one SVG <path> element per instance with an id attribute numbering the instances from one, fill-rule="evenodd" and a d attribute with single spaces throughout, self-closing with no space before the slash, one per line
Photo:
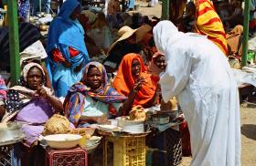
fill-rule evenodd
<path id="1" fill-rule="evenodd" d="M 92 89 L 101 87 L 103 77 L 101 71 L 97 67 L 90 67 L 87 74 L 87 84 Z"/>

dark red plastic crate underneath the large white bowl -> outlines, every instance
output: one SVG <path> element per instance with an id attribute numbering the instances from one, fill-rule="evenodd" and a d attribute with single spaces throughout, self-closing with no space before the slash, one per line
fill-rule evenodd
<path id="1" fill-rule="evenodd" d="M 80 147 L 70 150 L 54 150 L 48 147 L 45 163 L 46 166 L 87 166 L 87 151 Z"/>

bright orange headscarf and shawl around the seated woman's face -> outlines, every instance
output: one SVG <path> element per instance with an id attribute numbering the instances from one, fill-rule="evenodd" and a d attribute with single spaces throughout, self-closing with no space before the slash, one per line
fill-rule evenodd
<path id="1" fill-rule="evenodd" d="M 152 82 L 151 75 L 146 73 L 146 68 L 144 67 L 144 62 L 140 55 L 131 53 L 123 57 L 123 60 L 117 71 L 117 76 L 113 81 L 113 88 L 115 88 L 119 93 L 128 97 L 135 83 L 132 74 L 132 64 L 134 59 L 137 59 L 140 62 L 140 76 L 144 77 L 146 79 L 146 82 L 137 93 L 137 96 L 133 101 L 133 105 L 142 105 L 143 107 L 147 108 L 153 104 L 149 103 L 149 101 L 154 98 L 156 87 Z"/>

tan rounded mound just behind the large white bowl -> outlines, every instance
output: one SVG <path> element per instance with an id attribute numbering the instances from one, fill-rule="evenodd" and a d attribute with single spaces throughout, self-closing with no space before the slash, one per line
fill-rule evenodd
<path id="1" fill-rule="evenodd" d="M 46 122 L 42 135 L 65 134 L 69 133 L 70 130 L 69 119 L 55 114 Z"/>

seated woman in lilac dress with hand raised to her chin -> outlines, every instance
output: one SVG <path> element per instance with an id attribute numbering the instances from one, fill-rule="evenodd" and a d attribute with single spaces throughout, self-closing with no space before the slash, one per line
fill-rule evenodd
<path id="1" fill-rule="evenodd" d="M 63 111 L 62 103 L 53 96 L 53 91 L 45 87 L 46 74 L 37 63 L 27 64 L 21 74 L 20 85 L 7 90 L 6 113 L 2 121 L 16 120 L 22 123 L 22 130 L 26 138 L 22 146 L 17 146 L 14 158 L 21 159 L 22 165 L 29 165 L 28 161 L 37 146 L 37 139 L 44 130 L 44 124 L 59 111 Z M 26 156 L 23 156 L 27 147 Z M 29 151 L 31 153 L 29 153 Z M 30 156 L 30 160 L 24 160 Z M 29 157 L 28 157 L 29 159 Z M 16 165 L 16 160 L 13 160 Z"/>

